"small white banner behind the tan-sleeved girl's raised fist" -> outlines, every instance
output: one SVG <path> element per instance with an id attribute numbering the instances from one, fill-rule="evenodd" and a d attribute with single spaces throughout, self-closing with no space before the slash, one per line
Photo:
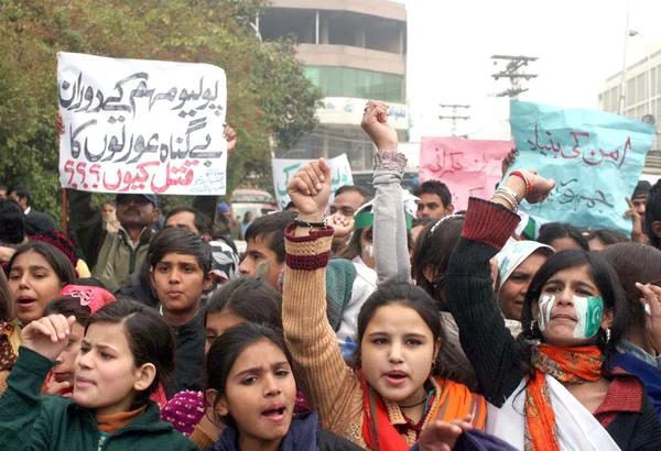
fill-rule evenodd
<path id="1" fill-rule="evenodd" d="M 308 160 L 285 160 L 285 158 L 273 158 L 273 188 L 275 189 L 275 198 L 278 199 L 278 206 L 281 210 L 292 200 L 286 194 L 286 185 L 296 175 L 301 166 L 310 163 Z M 336 156 L 335 158 L 328 160 L 330 165 L 330 199 L 333 201 L 335 191 L 337 188 L 344 185 L 354 185 L 354 177 L 351 176 L 351 166 L 346 154 Z"/>

